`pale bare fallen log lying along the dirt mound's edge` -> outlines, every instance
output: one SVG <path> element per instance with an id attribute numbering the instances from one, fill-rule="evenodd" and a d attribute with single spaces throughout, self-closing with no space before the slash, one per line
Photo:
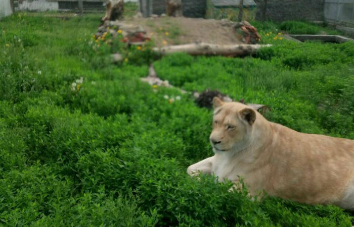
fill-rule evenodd
<path id="1" fill-rule="evenodd" d="M 190 43 L 183 45 L 172 45 L 165 47 L 154 47 L 153 50 L 162 55 L 175 53 L 175 52 L 186 52 L 191 55 L 224 55 L 224 56 L 246 56 L 255 52 L 257 49 L 262 47 L 272 46 L 270 44 L 229 44 L 229 45 L 219 45 L 210 43 Z"/>

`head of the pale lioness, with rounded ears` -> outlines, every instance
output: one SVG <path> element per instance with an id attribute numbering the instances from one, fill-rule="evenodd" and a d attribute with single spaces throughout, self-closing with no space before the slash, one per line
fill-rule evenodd
<path id="1" fill-rule="evenodd" d="M 241 151 L 249 146 L 256 112 L 239 102 L 213 99 L 214 116 L 210 143 L 215 153 Z"/>

